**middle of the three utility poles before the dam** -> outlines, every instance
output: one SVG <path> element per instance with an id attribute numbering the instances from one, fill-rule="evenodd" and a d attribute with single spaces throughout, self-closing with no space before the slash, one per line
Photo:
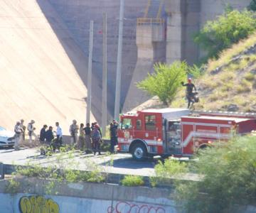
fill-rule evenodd
<path id="1" fill-rule="evenodd" d="M 103 65 L 102 65 L 102 136 L 107 126 L 107 13 L 103 13 Z"/>

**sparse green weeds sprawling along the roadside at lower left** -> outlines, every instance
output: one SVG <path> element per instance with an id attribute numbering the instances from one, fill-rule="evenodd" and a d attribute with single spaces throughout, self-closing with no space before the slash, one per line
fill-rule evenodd
<path id="1" fill-rule="evenodd" d="M 13 173 L 13 179 L 9 180 L 9 184 L 6 187 L 6 191 L 10 193 L 16 193 L 20 182 L 14 180 L 14 177 L 28 177 L 39 178 L 44 180 L 43 187 L 46 189 L 46 194 L 58 194 L 56 186 L 62 182 L 104 182 L 107 178 L 105 173 L 102 173 L 102 169 L 96 164 L 87 160 L 87 170 L 80 171 L 74 170 L 79 168 L 80 163 L 76 158 L 77 152 L 70 147 L 60 148 L 60 153 L 55 154 L 55 163 L 50 165 L 38 165 L 36 163 L 28 162 L 26 166 L 16 166 L 16 172 Z M 52 156 L 48 153 L 47 158 Z M 110 161 L 112 163 L 112 161 Z M 23 180 L 24 181 L 24 180 Z M 30 180 L 27 179 L 27 182 Z"/>

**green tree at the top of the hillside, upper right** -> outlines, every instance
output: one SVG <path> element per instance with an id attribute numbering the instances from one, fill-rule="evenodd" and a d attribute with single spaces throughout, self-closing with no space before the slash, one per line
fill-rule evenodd
<path id="1" fill-rule="evenodd" d="M 207 58 L 218 58 L 220 51 L 247 38 L 255 29 L 255 13 L 228 9 L 217 20 L 206 22 L 194 41 L 206 50 Z"/>

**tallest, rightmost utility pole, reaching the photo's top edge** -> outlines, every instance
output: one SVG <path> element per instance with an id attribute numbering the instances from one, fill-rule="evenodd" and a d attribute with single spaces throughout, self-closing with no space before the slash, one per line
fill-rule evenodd
<path id="1" fill-rule="evenodd" d="M 115 101 L 114 101 L 114 119 L 117 119 L 117 120 L 119 120 L 119 110 L 120 110 L 123 24 L 124 24 L 124 0 L 120 0 L 119 35 L 118 35 L 118 48 L 117 48 L 117 79 L 116 79 Z"/>

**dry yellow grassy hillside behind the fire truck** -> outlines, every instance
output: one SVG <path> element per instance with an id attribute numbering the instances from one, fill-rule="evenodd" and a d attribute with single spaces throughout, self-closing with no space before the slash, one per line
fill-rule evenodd
<path id="1" fill-rule="evenodd" d="M 196 110 L 256 111 L 256 34 L 225 50 L 218 60 L 210 60 L 194 83 L 201 101 Z M 170 107 L 186 107 L 181 88 Z M 162 108 L 159 100 L 145 102 L 136 109 Z"/>

